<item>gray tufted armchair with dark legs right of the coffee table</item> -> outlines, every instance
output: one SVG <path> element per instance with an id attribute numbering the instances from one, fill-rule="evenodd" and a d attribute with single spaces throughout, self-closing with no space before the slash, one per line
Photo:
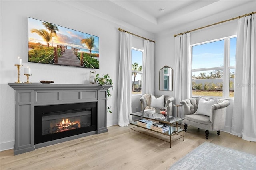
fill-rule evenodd
<path id="1" fill-rule="evenodd" d="M 205 129 L 205 138 L 208 139 L 209 131 L 217 131 L 220 135 L 220 130 L 225 126 L 226 107 L 230 102 L 224 99 L 218 99 L 217 104 L 212 105 L 210 116 L 194 114 L 198 108 L 199 98 L 190 98 L 182 100 L 180 103 L 184 106 L 184 130 L 187 131 L 188 125 Z M 207 99 L 206 100 L 210 100 Z"/>

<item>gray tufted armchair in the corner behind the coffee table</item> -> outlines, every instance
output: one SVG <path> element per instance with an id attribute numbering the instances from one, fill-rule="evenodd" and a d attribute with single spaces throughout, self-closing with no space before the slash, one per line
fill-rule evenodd
<path id="1" fill-rule="evenodd" d="M 141 96 L 140 98 L 140 102 L 141 102 L 141 109 L 142 111 L 144 111 L 145 109 L 155 109 L 156 113 L 160 113 L 161 109 L 160 108 L 152 108 L 150 107 L 150 103 L 151 103 L 151 95 L 150 94 L 144 94 Z M 156 96 L 156 98 L 159 98 L 160 96 Z M 171 113 L 172 114 L 172 102 L 174 101 L 174 97 L 172 96 L 168 96 L 168 95 L 164 95 L 164 106 L 165 108 L 168 108 L 167 113 Z M 168 106 L 168 107 L 167 107 Z M 164 108 L 162 108 L 164 109 Z"/>

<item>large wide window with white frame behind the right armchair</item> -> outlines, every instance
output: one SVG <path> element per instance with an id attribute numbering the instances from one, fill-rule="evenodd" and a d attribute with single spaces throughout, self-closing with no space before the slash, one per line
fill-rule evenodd
<path id="1" fill-rule="evenodd" d="M 236 37 L 191 45 L 192 95 L 233 98 Z"/>

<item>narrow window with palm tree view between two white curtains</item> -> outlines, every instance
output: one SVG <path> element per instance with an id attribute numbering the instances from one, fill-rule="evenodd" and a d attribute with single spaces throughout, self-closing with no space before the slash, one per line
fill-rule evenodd
<path id="1" fill-rule="evenodd" d="M 142 56 L 142 50 L 132 48 L 132 95 L 142 94 Z"/>

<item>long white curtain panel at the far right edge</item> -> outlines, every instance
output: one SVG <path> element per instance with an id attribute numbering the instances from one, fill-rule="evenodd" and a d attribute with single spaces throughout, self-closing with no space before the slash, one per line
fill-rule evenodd
<path id="1" fill-rule="evenodd" d="M 231 134 L 256 141 L 256 21 L 255 14 L 238 20 L 236 78 Z"/>

